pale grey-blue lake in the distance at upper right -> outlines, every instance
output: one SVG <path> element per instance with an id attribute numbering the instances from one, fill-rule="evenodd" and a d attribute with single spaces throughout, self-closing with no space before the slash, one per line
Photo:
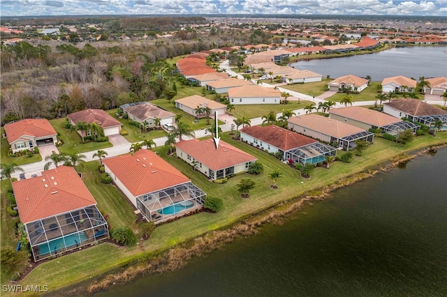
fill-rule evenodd
<path id="1" fill-rule="evenodd" d="M 447 47 L 394 47 L 374 54 L 344 56 L 336 59 L 299 61 L 291 64 L 294 68 L 311 70 L 332 78 L 344 75 L 372 77 L 373 82 L 381 82 L 385 77 L 446 77 Z"/>

